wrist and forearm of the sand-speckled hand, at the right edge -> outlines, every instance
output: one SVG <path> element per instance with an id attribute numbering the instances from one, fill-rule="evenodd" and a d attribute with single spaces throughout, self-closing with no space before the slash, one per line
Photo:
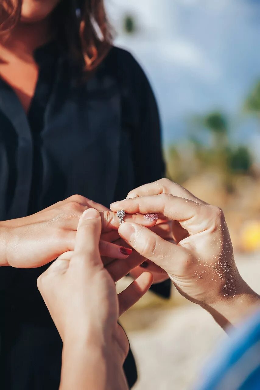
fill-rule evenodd
<path id="1" fill-rule="evenodd" d="M 204 308 L 225 331 L 235 327 L 260 305 L 260 296 L 241 278 L 232 296 L 219 298 L 213 305 Z M 203 305 L 202 305 L 203 307 Z"/>

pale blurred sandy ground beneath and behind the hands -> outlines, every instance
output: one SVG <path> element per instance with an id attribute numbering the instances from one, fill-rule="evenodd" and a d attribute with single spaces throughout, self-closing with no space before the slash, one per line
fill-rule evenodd
<path id="1" fill-rule="evenodd" d="M 237 255 L 236 261 L 242 277 L 260 293 L 260 254 Z M 207 312 L 176 290 L 170 302 L 148 293 L 121 323 L 138 364 L 134 390 L 193 388 L 210 353 L 226 337 Z"/>

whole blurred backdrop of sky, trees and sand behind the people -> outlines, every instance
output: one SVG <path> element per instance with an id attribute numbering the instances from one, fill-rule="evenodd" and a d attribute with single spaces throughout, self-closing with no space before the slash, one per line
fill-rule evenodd
<path id="1" fill-rule="evenodd" d="M 168 177 L 223 208 L 239 270 L 260 293 L 260 2 L 106 5 L 115 44 L 136 57 L 156 94 Z M 224 337 L 207 313 L 172 295 L 149 293 L 122 317 L 136 390 L 192 388 Z"/>

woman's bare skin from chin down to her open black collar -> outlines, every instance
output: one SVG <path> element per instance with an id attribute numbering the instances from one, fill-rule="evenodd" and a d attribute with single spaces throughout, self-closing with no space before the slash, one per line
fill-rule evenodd
<path id="1" fill-rule="evenodd" d="M 21 18 L 11 34 L 0 36 L 0 77 L 27 113 L 38 80 L 34 50 L 53 37 L 52 11 L 59 0 L 23 0 Z"/>

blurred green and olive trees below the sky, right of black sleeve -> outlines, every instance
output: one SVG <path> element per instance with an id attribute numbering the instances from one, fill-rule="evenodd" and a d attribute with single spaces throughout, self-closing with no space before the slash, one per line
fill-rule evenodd
<path id="1" fill-rule="evenodd" d="M 260 82 L 256 83 L 244 106 L 248 112 L 260 115 Z M 237 176 L 253 175 L 253 160 L 246 146 L 232 145 L 229 135 L 230 121 L 222 112 L 193 118 L 189 140 L 183 145 L 171 146 L 166 152 L 171 179 L 184 183 L 189 177 L 204 172 L 218 172 L 223 186 L 232 192 Z"/>

